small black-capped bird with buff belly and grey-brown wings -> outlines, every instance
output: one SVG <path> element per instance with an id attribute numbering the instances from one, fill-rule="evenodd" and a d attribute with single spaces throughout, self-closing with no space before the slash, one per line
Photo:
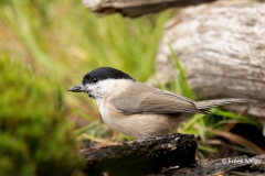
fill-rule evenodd
<path id="1" fill-rule="evenodd" d="M 136 140 L 171 133 L 191 113 L 208 114 L 212 107 L 254 101 L 239 98 L 193 101 L 137 81 L 112 67 L 87 73 L 68 91 L 87 94 L 108 127 Z"/>

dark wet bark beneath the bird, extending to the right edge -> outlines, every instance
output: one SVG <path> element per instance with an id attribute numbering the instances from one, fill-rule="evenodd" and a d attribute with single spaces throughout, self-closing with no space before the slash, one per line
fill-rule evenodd
<path id="1" fill-rule="evenodd" d="M 85 173 L 93 175 L 214 175 L 265 172 L 265 155 L 195 161 L 193 135 L 172 134 L 121 145 L 87 148 Z"/>

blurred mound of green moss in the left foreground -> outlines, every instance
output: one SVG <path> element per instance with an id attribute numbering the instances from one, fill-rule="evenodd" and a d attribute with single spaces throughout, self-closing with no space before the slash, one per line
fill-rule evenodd
<path id="1" fill-rule="evenodd" d="M 56 84 L 0 55 L 0 175 L 72 175 L 82 165 Z"/>

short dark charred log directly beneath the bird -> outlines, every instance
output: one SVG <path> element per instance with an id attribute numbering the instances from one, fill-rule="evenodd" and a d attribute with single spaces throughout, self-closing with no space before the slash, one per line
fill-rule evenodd
<path id="1" fill-rule="evenodd" d="M 82 152 L 88 175 L 144 175 L 195 163 L 194 135 L 172 134 Z"/>

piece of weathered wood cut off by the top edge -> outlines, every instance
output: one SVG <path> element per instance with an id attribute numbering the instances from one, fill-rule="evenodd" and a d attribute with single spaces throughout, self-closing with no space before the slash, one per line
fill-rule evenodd
<path id="1" fill-rule="evenodd" d="M 124 16 L 136 18 L 169 8 L 197 6 L 213 1 L 215 0 L 83 0 L 83 3 L 99 15 L 120 13 Z"/>

